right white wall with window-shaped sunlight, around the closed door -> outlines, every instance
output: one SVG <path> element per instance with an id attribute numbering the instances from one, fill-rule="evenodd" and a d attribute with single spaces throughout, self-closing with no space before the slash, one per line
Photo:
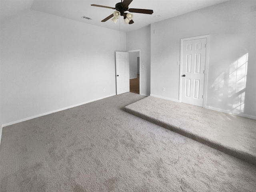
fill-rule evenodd
<path id="1" fill-rule="evenodd" d="M 256 11 L 251 11 L 252 6 L 256 1 L 228 1 L 152 24 L 151 94 L 178 100 L 180 39 L 210 34 L 206 106 L 256 117 Z M 247 53 L 247 74 L 241 74 L 235 62 Z M 234 71 L 239 75 L 234 76 Z M 236 78 L 245 76 L 243 87 Z M 238 104 L 241 96 L 244 101 Z"/>

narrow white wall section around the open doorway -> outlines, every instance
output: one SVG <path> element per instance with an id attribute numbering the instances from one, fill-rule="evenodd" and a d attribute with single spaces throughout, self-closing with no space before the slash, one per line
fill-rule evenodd
<path id="1" fill-rule="evenodd" d="M 150 95 L 150 26 L 126 33 L 126 50 L 138 49 L 141 50 L 141 94 L 148 96 Z"/>

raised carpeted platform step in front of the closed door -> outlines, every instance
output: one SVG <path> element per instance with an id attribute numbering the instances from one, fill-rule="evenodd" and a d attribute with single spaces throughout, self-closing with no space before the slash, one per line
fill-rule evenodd
<path id="1" fill-rule="evenodd" d="M 152 96 L 125 110 L 256 165 L 256 120 Z"/>

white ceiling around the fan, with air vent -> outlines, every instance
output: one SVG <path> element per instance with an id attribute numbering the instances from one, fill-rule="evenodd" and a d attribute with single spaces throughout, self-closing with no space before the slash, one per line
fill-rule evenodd
<path id="1" fill-rule="evenodd" d="M 121 2 L 121 0 L 1 0 L 1 20 L 19 11 L 31 8 L 35 11 L 79 22 L 129 32 L 154 22 L 225 1 L 227 0 L 133 0 L 129 8 L 152 9 L 154 13 L 152 15 L 134 13 L 134 24 L 124 24 L 122 18 L 114 24 L 111 19 L 100 22 L 112 14 L 113 9 L 94 7 L 91 4 L 115 7 L 115 4 Z M 84 19 L 82 16 L 92 18 L 92 20 Z"/>

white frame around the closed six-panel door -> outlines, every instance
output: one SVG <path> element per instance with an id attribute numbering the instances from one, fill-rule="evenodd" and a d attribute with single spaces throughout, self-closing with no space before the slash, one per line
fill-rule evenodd
<path id="1" fill-rule="evenodd" d="M 190 38 L 182 38 L 180 39 L 180 91 L 179 91 L 179 102 L 181 103 L 182 98 L 182 58 L 183 58 L 183 43 L 188 40 L 196 40 L 206 38 L 206 55 L 205 55 L 205 69 L 204 69 L 204 98 L 203 98 L 203 108 L 206 105 L 206 87 L 207 87 L 207 76 L 208 76 L 208 58 L 209 58 L 209 41 L 210 35 L 202 35 Z"/>

